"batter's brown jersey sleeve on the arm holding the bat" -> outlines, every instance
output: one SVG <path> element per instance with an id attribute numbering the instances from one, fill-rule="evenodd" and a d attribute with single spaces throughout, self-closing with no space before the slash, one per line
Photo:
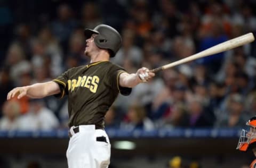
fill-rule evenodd
<path id="1" fill-rule="evenodd" d="M 114 89 L 117 89 L 118 92 L 121 93 L 122 95 L 128 96 L 131 94 L 132 88 L 121 87 L 119 85 L 119 77 L 120 77 L 120 74 L 123 72 L 126 72 L 126 71 L 119 66 L 116 66 L 111 70 L 111 72 L 110 72 L 111 81 L 112 81 L 111 85 Z"/>

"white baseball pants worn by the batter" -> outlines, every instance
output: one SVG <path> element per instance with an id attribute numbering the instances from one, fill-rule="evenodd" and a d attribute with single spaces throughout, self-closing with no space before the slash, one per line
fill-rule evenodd
<path id="1" fill-rule="evenodd" d="M 111 145 L 105 130 L 95 129 L 95 125 L 79 125 L 79 132 L 75 133 L 73 128 L 67 149 L 68 167 L 107 168 Z M 99 140 L 104 137 L 107 142 Z"/>

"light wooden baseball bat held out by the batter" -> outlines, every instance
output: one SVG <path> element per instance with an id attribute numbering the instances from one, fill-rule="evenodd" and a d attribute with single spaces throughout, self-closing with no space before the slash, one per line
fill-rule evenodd
<path id="1" fill-rule="evenodd" d="M 218 45 L 215 45 L 211 48 L 205 49 L 202 52 L 196 53 L 196 54 L 188 56 L 186 58 L 182 58 L 181 60 L 172 62 L 170 64 L 163 65 L 159 68 L 156 68 L 156 69 L 153 69 L 153 70 L 150 70 L 150 71 L 151 72 L 157 72 L 159 70 L 165 70 L 165 69 L 168 69 L 168 68 L 172 68 L 173 66 L 177 66 L 177 65 L 180 65 L 180 64 L 183 64 L 183 63 L 187 63 L 189 61 L 193 61 L 193 60 L 196 60 L 198 58 L 202 58 L 202 57 L 210 56 L 210 55 L 213 55 L 213 54 L 228 51 L 229 49 L 233 49 L 233 48 L 251 43 L 252 41 L 254 41 L 254 36 L 253 36 L 253 33 L 250 32 L 250 33 L 247 33 L 243 36 L 233 38 L 231 40 L 228 40 L 228 41 L 225 41 L 225 42 L 220 43 Z"/>

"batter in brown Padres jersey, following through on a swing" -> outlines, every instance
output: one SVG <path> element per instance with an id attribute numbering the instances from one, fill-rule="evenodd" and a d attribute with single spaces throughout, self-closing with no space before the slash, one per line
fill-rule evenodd
<path id="1" fill-rule="evenodd" d="M 121 47 L 122 38 L 112 27 L 105 24 L 85 29 L 85 55 L 91 62 L 71 68 L 58 78 L 44 83 L 17 87 L 7 99 L 43 98 L 55 95 L 68 96 L 69 168 L 105 168 L 110 163 L 110 142 L 104 130 L 104 116 L 118 93 L 129 95 L 131 88 L 147 82 L 154 73 L 141 68 L 129 74 L 120 66 L 109 62 Z"/>

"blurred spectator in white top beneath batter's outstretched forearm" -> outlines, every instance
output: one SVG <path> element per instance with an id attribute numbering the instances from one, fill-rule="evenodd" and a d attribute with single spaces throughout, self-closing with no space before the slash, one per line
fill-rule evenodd
<path id="1" fill-rule="evenodd" d="M 31 99 L 30 108 L 29 113 L 21 116 L 19 130 L 52 130 L 59 127 L 57 117 L 44 106 L 41 99 Z"/>

